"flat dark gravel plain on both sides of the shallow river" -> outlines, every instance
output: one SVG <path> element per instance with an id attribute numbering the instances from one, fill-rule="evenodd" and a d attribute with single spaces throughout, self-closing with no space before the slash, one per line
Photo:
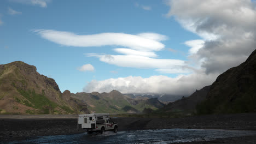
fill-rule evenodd
<path id="1" fill-rule="evenodd" d="M 118 130 L 142 129 L 234 129 L 256 130 L 256 113 L 191 116 L 183 118 L 112 118 Z M 0 142 L 43 135 L 84 133 L 77 129 L 77 115 L 0 115 Z M 230 137 L 190 143 L 256 143 L 256 136 Z"/>

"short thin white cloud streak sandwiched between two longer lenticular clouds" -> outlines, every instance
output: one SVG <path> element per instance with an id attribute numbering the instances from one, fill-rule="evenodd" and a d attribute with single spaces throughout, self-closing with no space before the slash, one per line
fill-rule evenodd
<path id="1" fill-rule="evenodd" d="M 151 51 L 136 51 L 136 50 L 124 49 L 124 48 L 114 49 L 114 51 L 119 52 L 119 53 L 123 53 L 124 55 L 157 57 L 157 55 L 154 52 L 151 52 Z"/>

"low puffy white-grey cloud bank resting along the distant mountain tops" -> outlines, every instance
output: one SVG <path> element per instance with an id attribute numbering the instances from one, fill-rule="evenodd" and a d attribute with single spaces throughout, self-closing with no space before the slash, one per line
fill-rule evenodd
<path id="1" fill-rule="evenodd" d="M 92 80 L 84 92 L 110 92 L 113 89 L 121 93 L 168 93 L 189 95 L 204 86 L 211 85 L 217 75 L 203 73 L 179 75 L 175 78 L 157 75 L 143 78 L 141 76 L 119 77 L 103 81 Z"/>

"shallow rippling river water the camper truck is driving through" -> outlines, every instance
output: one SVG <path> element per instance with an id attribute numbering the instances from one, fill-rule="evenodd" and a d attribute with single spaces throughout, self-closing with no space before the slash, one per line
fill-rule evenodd
<path id="1" fill-rule="evenodd" d="M 218 138 L 256 135 L 256 131 L 205 130 L 205 129 L 160 129 L 119 131 L 117 134 L 106 131 L 104 134 L 75 134 L 39 136 L 37 139 L 13 141 L 10 143 L 173 143 L 209 141 Z"/>

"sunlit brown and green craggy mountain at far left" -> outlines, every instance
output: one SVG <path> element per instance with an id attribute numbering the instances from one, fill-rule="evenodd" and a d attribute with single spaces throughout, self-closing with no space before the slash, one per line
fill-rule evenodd
<path id="1" fill-rule="evenodd" d="M 54 79 L 24 62 L 0 65 L 0 112 L 30 114 L 88 113 L 86 105 L 61 93 Z"/>

